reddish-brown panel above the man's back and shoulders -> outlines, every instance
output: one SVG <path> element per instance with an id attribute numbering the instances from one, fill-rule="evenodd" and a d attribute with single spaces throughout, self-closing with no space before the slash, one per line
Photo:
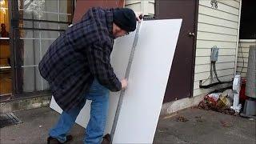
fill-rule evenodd
<path id="1" fill-rule="evenodd" d="M 82 15 L 93 6 L 99 6 L 102 8 L 123 7 L 124 0 L 77 0 L 73 22 L 78 22 L 82 18 Z"/>

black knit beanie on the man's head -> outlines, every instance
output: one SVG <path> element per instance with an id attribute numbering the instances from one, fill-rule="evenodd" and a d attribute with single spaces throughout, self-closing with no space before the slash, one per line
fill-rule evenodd
<path id="1" fill-rule="evenodd" d="M 114 9 L 113 20 L 122 30 L 130 32 L 136 29 L 136 16 L 134 11 L 128 8 Z"/>

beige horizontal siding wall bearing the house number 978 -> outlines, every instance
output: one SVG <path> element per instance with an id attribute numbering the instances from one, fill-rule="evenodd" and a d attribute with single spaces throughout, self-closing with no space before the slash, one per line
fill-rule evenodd
<path id="1" fill-rule="evenodd" d="M 227 86 L 215 86 L 206 90 L 199 88 L 200 80 L 204 82 L 203 85 L 210 84 L 210 51 L 213 46 L 219 48 L 216 62 L 218 78 L 221 81 L 230 81 L 234 78 L 239 8 L 239 1 L 218 0 L 218 8 L 214 9 L 210 0 L 199 0 L 194 96 Z M 217 82 L 215 77 L 214 79 Z"/>

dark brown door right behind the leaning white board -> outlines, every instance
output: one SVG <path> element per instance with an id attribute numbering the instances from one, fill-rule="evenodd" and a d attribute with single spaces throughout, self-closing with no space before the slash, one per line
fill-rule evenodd
<path id="1" fill-rule="evenodd" d="M 182 18 L 164 102 L 193 96 L 198 0 L 156 0 L 157 19 Z"/>

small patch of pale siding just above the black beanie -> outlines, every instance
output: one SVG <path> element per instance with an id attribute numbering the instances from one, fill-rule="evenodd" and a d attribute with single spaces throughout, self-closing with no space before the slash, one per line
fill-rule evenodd
<path id="1" fill-rule="evenodd" d="M 138 13 L 154 15 L 154 0 L 126 0 L 125 6 Z"/>

